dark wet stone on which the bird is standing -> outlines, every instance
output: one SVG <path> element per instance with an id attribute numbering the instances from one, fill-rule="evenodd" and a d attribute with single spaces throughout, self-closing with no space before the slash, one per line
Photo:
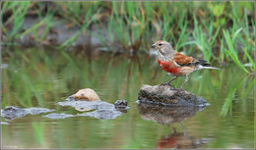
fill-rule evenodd
<path id="1" fill-rule="evenodd" d="M 171 88 L 169 85 L 142 85 L 138 99 L 172 106 L 207 106 L 209 103 L 186 90 Z"/>

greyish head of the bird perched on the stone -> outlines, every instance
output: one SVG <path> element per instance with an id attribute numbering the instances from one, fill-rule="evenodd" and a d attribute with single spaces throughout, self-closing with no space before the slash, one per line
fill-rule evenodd
<path id="1" fill-rule="evenodd" d="M 174 50 L 173 50 L 172 46 L 168 42 L 163 41 L 163 40 L 157 41 L 151 47 L 157 49 L 159 54 L 164 57 L 172 56 L 174 54 Z"/>

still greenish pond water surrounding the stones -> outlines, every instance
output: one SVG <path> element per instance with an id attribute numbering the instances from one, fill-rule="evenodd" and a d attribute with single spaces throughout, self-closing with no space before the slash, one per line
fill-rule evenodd
<path id="1" fill-rule="evenodd" d="M 143 84 L 170 76 L 156 56 L 90 50 L 5 48 L 2 55 L 1 108 L 43 107 L 79 114 L 58 102 L 90 87 L 102 101 L 126 100 L 127 113 L 113 120 L 74 117 L 59 120 L 28 115 L 1 125 L 5 148 L 254 148 L 254 76 L 235 65 L 221 71 L 197 71 L 184 89 L 204 97 L 204 109 L 138 104 Z M 179 87 L 184 81 L 174 82 Z M 44 114 L 45 115 L 45 114 Z M 7 122 L 1 118 L 1 122 Z"/>

